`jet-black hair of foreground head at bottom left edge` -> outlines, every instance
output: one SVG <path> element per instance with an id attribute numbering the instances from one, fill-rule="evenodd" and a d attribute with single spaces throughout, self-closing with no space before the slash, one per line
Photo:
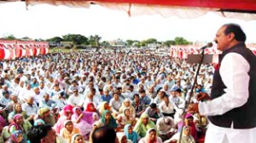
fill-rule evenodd
<path id="1" fill-rule="evenodd" d="M 41 140 L 47 136 L 49 130 L 51 130 L 50 124 L 41 124 L 40 126 L 33 127 L 28 133 L 27 138 L 32 143 L 40 143 Z"/>

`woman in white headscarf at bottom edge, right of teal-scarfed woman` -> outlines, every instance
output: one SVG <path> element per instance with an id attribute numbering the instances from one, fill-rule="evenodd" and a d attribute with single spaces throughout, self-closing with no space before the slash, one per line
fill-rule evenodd
<path id="1" fill-rule="evenodd" d="M 146 136 L 139 140 L 139 143 L 162 143 L 162 140 L 157 136 L 156 129 L 152 128 L 148 129 Z"/>

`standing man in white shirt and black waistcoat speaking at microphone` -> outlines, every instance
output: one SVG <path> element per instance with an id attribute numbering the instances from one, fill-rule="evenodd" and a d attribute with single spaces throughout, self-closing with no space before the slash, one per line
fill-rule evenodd
<path id="1" fill-rule="evenodd" d="M 201 102 L 190 104 L 188 112 L 209 118 L 206 143 L 254 143 L 256 56 L 246 48 L 246 35 L 236 24 L 221 26 L 214 41 L 223 54 L 214 72 L 211 97 L 198 94 Z"/>

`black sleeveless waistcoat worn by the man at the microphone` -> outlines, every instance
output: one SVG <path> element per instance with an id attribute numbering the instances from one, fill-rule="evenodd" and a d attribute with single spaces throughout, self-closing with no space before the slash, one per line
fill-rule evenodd
<path id="1" fill-rule="evenodd" d="M 233 123 L 234 129 L 252 129 L 256 127 L 256 56 L 250 49 L 245 47 L 244 43 L 239 43 L 231 49 L 225 50 L 223 54 L 219 55 L 219 63 L 226 54 L 237 53 L 241 54 L 250 65 L 248 75 L 249 80 L 249 98 L 247 103 L 243 106 L 234 108 L 223 115 L 210 116 L 211 123 L 224 128 L 230 128 Z M 236 63 L 235 63 L 236 64 Z M 211 99 L 218 98 L 223 95 L 224 85 L 222 78 L 220 77 L 219 70 L 214 72 Z M 226 103 L 230 104 L 230 103 Z M 218 108 L 218 106 L 216 106 Z"/>

